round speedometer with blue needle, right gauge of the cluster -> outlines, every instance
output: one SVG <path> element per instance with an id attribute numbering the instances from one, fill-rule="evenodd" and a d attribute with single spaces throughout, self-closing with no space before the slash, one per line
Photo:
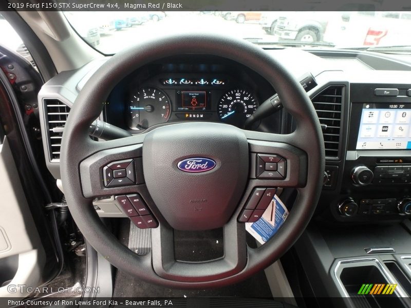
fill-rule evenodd
<path id="1" fill-rule="evenodd" d="M 243 127 L 257 107 L 258 103 L 250 92 L 243 89 L 230 90 L 218 102 L 218 116 L 223 122 Z"/>

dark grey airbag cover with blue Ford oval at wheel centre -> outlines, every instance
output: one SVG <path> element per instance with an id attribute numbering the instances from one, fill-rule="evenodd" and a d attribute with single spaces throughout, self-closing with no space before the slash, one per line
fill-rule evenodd
<path id="1" fill-rule="evenodd" d="M 197 166 L 184 161 L 189 158 L 204 160 Z M 148 132 L 144 139 L 147 189 L 175 229 L 207 230 L 226 224 L 245 190 L 248 170 L 248 142 L 234 126 L 173 124 Z"/>

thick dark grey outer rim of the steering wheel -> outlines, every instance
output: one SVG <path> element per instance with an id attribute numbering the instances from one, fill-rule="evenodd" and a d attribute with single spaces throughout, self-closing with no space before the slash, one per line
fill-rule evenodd
<path id="1" fill-rule="evenodd" d="M 287 135 L 244 131 L 247 140 L 261 145 L 270 142 L 272 145 L 290 145 L 306 155 L 306 161 L 302 163 L 305 166 L 304 172 L 295 175 L 305 179 L 301 181 L 303 184 L 296 186 L 298 193 L 295 203 L 275 236 L 259 248 L 246 247 L 244 264 L 240 264 L 235 271 L 225 275 L 207 276 L 208 269 L 203 268 L 202 274 L 206 278 L 197 278 L 195 275 L 187 279 L 159 276 L 159 272 L 153 269 L 153 266 L 156 266 L 153 260 L 157 258 L 153 255 L 154 252 L 144 257 L 138 256 L 121 244 L 105 227 L 92 206 L 93 198 L 84 193 L 87 185 L 81 175 L 81 163 L 96 153 L 143 143 L 144 134 L 106 142 L 96 142 L 89 138 L 88 127 L 99 117 L 103 108 L 102 102 L 106 100 L 110 91 L 124 76 L 137 68 L 181 54 L 224 57 L 263 76 L 276 89 L 284 108 L 292 115 L 297 125 L 295 131 Z M 147 282 L 169 287 L 206 288 L 233 284 L 246 279 L 276 261 L 294 244 L 306 228 L 319 200 L 324 163 L 324 140 L 312 103 L 302 86 L 275 57 L 244 40 L 211 34 L 180 34 L 156 37 L 155 40 L 121 51 L 110 57 L 91 76 L 69 113 L 63 132 L 60 168 L 67 205 L 74 221 L 86 240 L 111 264 Z M 237 228 L 238 242 L 244 241 L 246 245 L 244 224 L 237 223 L 236 217 L 230 221 Z M 161 230 L 153 229 L 153 232 L 160 236 Z"/>

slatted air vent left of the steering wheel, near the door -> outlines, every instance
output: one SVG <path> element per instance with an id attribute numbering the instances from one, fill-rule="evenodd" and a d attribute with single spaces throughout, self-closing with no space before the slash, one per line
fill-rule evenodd
<path id="1" fill-rule="evenodd" d="M 44 110 L 47 113 L 46 127 L 48 129 L 48 150 L 50 160 L 60 159 L 61 138 L 63 136 L 63 128 L 66 125 L 66 120 L 70 107 L 58 100 L 44 100 Z"/>

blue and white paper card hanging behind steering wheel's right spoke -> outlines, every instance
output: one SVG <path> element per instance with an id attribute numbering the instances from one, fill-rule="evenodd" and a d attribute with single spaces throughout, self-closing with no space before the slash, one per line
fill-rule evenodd
<path id="1" fill-rule="evenodd" d="M 246 230 L 260 244 L 266 243 L 282 226 L 287 219 L 288 209 L 284 203 L 274 195 L 264 214 L 256 222 L 246 223 Z"/>

